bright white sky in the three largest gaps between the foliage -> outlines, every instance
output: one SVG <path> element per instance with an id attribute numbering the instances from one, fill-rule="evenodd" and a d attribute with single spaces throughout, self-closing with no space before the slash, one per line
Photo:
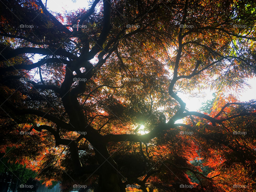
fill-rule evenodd
<path id="1" fill-rule="evenodd" d="M 43 1 L 45 2 L 45 1 Z M 66 11 L 77 10 L 78 8 L 88 7 L 88 2 L 86 0 L 77 0 L 72 2 L 71 0 L 48 0 L 47 1 L 47 8 L 51 11 L 56 11 L 59 13 L 64 13 Z M 244 87 L 240 93 L 232 93 L 237 96 L 240 101 L 249 101 L 250 99 L 255 99 L 256 95 L 256 78 L 248 79 L 248 84 L 251 87 Z M 178 93 L 178 96 L 186 103 L 186 107 L 189 111 L 197 111 L 201 106 L 202 103 L 206 102 L 209 99 L 213 99 L 212 94 L 215 92 L 214 90 L 205 89 L 201 90 L 205 92 L 202 97 L 199 98 L 190 98 L 185 94 Z"/>

